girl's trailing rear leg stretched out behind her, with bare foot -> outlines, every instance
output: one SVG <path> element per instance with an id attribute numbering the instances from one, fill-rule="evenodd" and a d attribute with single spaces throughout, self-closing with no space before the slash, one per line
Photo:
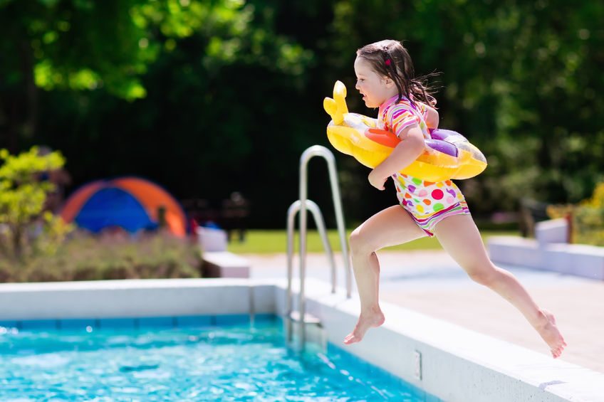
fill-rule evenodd
<path id="1" fill-rule="evenodd" d="M 437 223 L 434 233 L 444 250 L 464 268 L 472 280 L 489 287 L 511 302 L 548 344 L 553 357 L 560 356 L 566 342 L 556 327 L 553 314 L 541 310 L 514 275 L 491 262 L 472 216 L 444 218 Z"/>

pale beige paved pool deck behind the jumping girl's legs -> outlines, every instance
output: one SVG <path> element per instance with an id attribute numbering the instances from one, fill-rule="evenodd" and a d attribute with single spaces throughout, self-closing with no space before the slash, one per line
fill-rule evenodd
<path id="1" fill-rule="evenodd" d="M 548 354 L 546 344 L 514 307 L 472 282 L 444 251 L 384 250 L 377 254 L 380 300 Z M 285 254 L 243 256 L 249 259 L 252 278 L 286 276 Z M 294 261 L 297 276 L 297 258 Z M 343 262 L 337 253 L 335 263 L 338 287 L 343 287 Z M 308 277 L 330 280 L 323 253 L 308 254 L 306 267 Z M 604 373 L 604 282 L 529 268 L 501 268 L 514 273 L 538 305 L 555 314 L 568 343 L 560 359 Z M 355 287 L 353 300 L 358 300 L 354 292 Z"/>

